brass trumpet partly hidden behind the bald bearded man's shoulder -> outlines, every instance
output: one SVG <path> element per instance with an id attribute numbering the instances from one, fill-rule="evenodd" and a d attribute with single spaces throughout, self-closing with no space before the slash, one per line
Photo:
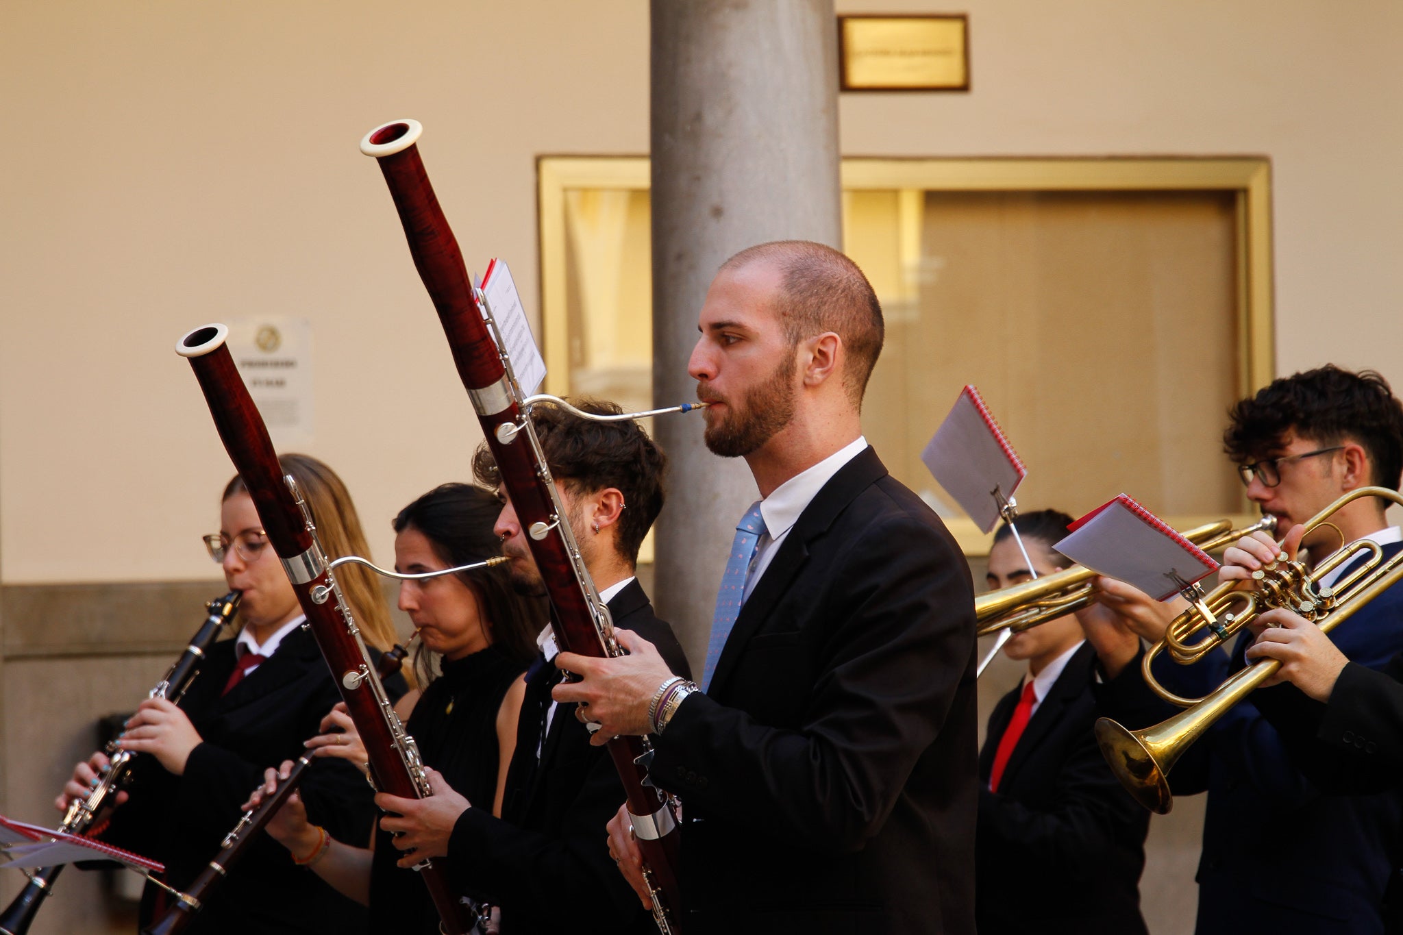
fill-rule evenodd
<path id="1" fill-rule="evenodd" d="M 1195 526 L 1183 535 L 1205 552 L 1214 552 L 1232 545 L 1243 535 L 1251 535 L 1257 531 L 1270 533 L 1275 524 L 1274 516 L 1264 516 L 1242 528 L 1233 528 L 1232 520 L 1218 520 Z M 975 634 L 988 636 L 1000 629 L 1021 634 L 1038 624 L 1079 611 L 1092 603 L 1093 578 L 1096 578 L 1096 572 L 1090 568 L 1073 565 L 1031 582 L 979 594 L 974 600 L 978 625 Z"/>

